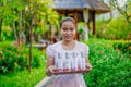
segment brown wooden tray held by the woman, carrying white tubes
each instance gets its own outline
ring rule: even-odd
[[[53,72],[55,75],[59,74],[75,74],[75,73],[88,73],[88,70],[78,70],[78,71],[64,71],[64,72]]]

